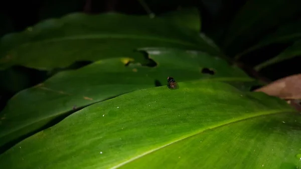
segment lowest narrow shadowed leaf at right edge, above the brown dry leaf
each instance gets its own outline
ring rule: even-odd
[[[301,40],[296,41],[292,46],[286,48],[276,57],[257,65],[254,69],[259,71],[266,66],[299,56],[301,56]]]

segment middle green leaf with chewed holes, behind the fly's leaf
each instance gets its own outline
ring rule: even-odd
[[[142,50],[142,49],[141,49]],[[177,81],[212,79],[228,82],[253,81],[242,70],[224,60],[197,51],[143,49],[156,67],[125,64],[128,58],[95,62],[78,70],[65,71],[44,83],[16,94],[1,112],[0,147],[35,132],[74,107],[106,100],[137,89],[166,85],[167,77]],[[202,73],[211,69],[214,75]]]

